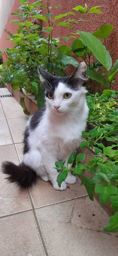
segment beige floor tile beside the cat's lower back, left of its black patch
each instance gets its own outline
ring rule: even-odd
[[[8,119],[9,128],[12,133],[14,143],[23,142],[23,134],[26,127],[28,117],[11,118]]]

